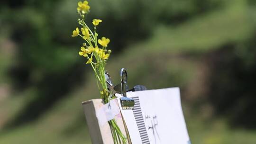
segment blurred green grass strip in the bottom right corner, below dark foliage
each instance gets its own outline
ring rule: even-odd
[[[256,131],[246,129],[230,129],[226,120],[203,122],[198,117],[187,121],[192,144],[254,144]]]

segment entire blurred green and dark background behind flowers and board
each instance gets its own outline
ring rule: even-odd
[[[99,98],[78,55],[77,0],[1,0],[0,144],[90,144],[81,102]],[[107,70],[180,87],[192,144],[256,142],[256,0],[89,0]]]

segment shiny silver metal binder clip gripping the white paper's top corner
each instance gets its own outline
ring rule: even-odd
[[[114,84],[111,81],[110,74],[105,72],[105,78],[108,85],[109,90],[114,95],[116,93],[120,93],[122,95],[122,98],[120,98],[120,103],[123,109],[133,109],[134,107],[134,100],[131,98],[126,97],[126,92],[128,90],[128,84],[127,84],[127,72],[125,69],[121,69],[120,71],[120,77],[121,82],[114,86]]]

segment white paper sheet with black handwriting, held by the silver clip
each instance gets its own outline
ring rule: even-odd
[[[134,110],[122,110],[132,144],[191,144],[179,88],[128,92]],[[120,103],[119,103],[120,106]]]

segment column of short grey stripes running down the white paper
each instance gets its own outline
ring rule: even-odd
[[[134,104],[134,109],[133,109],[133,114],[137,123],[137,127],[139,130],[139,135],[142,141],[142,144],[150,144],[148,135],[146,133],[146,126],[145,122],[143,120],[143,115],[141,112],[140,108],[140,103],[139,103],[139,98],[138,97],[133,97],[135,104]]]

